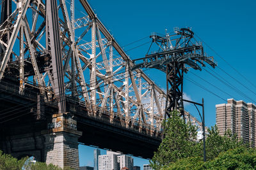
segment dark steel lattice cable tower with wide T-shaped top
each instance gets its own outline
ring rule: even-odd
[[[149,67],[156,68],[166,73],[166,106],[164,119],[166,115],[170,117],[170,111],[177,110],[179,105],[183,106],[183,74],[187,73],[189,68],[202,70],[199,64],[205,66],[205,63],[212,67],[217,66],[213,57],[207,57],[204,53],[202,43],[193,39],[194,32],[188,28],[175,29],[174,34],[158,36],[152,34],[152,45],[156,45],[157,52],[152,52],[140,59],[132,60],[134,63],[143,60],[139,64],[131,67],[131,70]],[[154,48],[156,50],[156,48]],[[181,114],[184,117],[184,111]]]

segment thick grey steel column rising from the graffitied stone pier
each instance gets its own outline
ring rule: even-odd
[[[58,20],[58,5],[56,0],[46,0],[46,19],[48,31],[46,39],[49,38],[49,49],[52,57],[52,72],[54,78],[54,94],[58,101],[59,113],[66,112],[64,74],[61,57],[60,28]]]

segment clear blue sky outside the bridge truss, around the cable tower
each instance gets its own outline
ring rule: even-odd
[[[205,52],[214,56],[218,62],[218,67],[214,71],[206,67],[207,71],[191,70],[185,75],[185,78],[196,81],[213,94],[187,79],[184,80],[184,93],[190,100],[200,103],[204,97],[207,126],[216,123],[215,104],[225,103],[228,98],[256,103],[256,1],[88,0],[88,2],[120,46],[145,38],[152,32],[164,34],[165,29],[172,32],[173,27],[192,28],[196,39],[200,38],[206,43],[203,44]],[[147,43],[149,41],[150,39],[146,38],[125,46],[124,49],[131,59],[143,57],[149,48],[150,43]],[[147,44],[140,46],[143,43]],[[129,50],[136,46],[140,47]],[[159,75],[165,77],[163,73],[154,69],[146,73],[159,87],[166,89],[165,78],[159,79]],[[195,106],[186,104],[185,109],[198,117]],[[79,145],[81,166],[93,166],[93,149]],[[134,159],[134,165],[142,166],[147,162],[148,160],[144,159]]]

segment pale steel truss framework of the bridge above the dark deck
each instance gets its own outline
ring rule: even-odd
[[[45,1],[10,1],[17,8],[0,25],[0,81],[15,78],[20,95],[38,89],[62,113],[65,97],[72,97],[84,101],[92,117],[109,111],[111,120],[118,118],[124,127],[145,124],[159,131],[163,90],[141,69],[129,69],[133,62],[87,1],[76,1],[83,13],[65,0],[54,2],[51,9],[58,18],[50,22],[54,13],[46,10]],[[10,41],[4,40],[7,34]]]

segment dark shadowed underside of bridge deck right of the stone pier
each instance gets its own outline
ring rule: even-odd
[[[83,132],[79,142],[84,145],[97,146],[145,159],[151,159],[161,143],[159,138],[152,138],[92,118],[77,117],[77,130]]]

